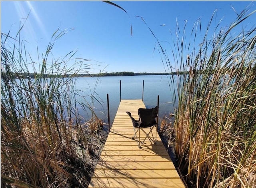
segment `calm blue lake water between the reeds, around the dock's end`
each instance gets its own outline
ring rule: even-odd
[[[98,118],[108,122],[107,94],[109,95],[110,123],[112,124],[120,103],[120,80],[121,99],[142,99],[142,88],[144,80],[143,102],[146,108],[157,106],[157,96],[159,95],[159,117],[163,118],[169,113],[174,113],[173,92],[169,86],[166,75],[148,76],[108,76],[108,77],[79,77],[76,78],[77,90],[81,90],[81,95],[88,95],[86,101],[93,103],[94,112]],[[92,100],[90,96],[94,96]],[[100,101],[100,102],[97,102]],[[82,110],[79,109],[78,110]],[[81,112],[85,119],[91,117],[88,112]]]

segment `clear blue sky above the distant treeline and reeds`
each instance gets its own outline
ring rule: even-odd
[[[156,39],[144,24],[141,16],[159,41],[167,41],[166,49],[175,40],[176,21],[182,28],[187,20],[187,33],[200,18],[206,28],[214,10],[216,21],[222,19],[223,27],[236,18],[231,6],[240,12],[250,5],[256,10],[255,1],[112,1],[124,8],[127,14],[102,1],[1,1],[1,32],[15,36],[19,22],[24,22],[21,32],[26,40],[26,50],[38,62],[52,34],[60,28],[68,31],[56,41],[52,54],[64,58],[72,50],[75,58],[91,60],[90,73],[104,72],[165,72],[160,55],[154,51]],[[255,24],[256,15],[245,24]],[[132,35],[131,29],[132,26]],[[172,34],[170,34],[170,31]],[[188,34],[189,36],[189,34]],[[198,42],[200,39],[198,39]],[[69,62],[72,63],[72,62]]]

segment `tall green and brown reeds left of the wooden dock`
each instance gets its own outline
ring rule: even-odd
[[[34,62],[20,39],[22,27],[14,37],[1,33],[1,187],[84,187],[92,135],[77,106],[94,112],[74,88],[76,79],[64,75],[87,72],[88,60],[75,52],[54,59],[52,48],[66,33],[58,29]],[[101,124],[94,117],[90,129]]]

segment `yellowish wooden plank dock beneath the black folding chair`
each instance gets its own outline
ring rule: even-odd
[[[121,100],[89,188],[185,187],[158,134],[156,144],[147,141],[141,149],[132,140],[126,111],[138,119],[138,108],[145,108],[142,100]]]

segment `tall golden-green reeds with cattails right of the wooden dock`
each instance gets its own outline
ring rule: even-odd
[[[169,78],[176,158],[190,187],[256,187],[256,27],[242,26],[255,12],[246,8],[226,28],[212,26],[214,12],[189,39],[177,22],[172,49],[158,41],[166,70],[189,72]]]

